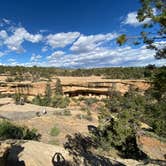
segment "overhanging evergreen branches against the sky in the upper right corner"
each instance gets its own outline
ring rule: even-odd
[[[123,45],[132,40],[135,45],[146,44],[148,49],[155,50],[155,58],[166,58],[166,1],[165,0],[140,0],[141,8],[137,12],[137,19],[143,22],[142,31],[137,36],[122,34],[117,38],[117,43]]]

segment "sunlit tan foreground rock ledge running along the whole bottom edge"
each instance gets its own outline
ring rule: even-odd
[[[142,143],[144,143],[144,141]],[[159,148],[161,147],[159,146]],[[63,147],[49,145],[37,141],[6,140],[0,142],[0,166],[56,166],[57,164],[55,163],[53,164],[52,162],[52,158],[55,153],[61,154],[61,159],[63,157],[63,159],[65,159],[65,161],[68,164],[72,166],[78,165],[75,163],[75,161],[73,161],[73,156],[69,155],[69,152],[65,150]],[[133,159],[122,159],[122,158],[113,159],[113,158],[104,158],[104,157],[102,158],[102,156],[87,156],[87,155],[88,154],[85,154],[87,158],[84,158],[85,156],[79,158],[80,166],[84,166],[85,163],[87,166],[92,166],[92,165],[93,166],[112,166],[112,165],[137,166],[139,164],[141,165],[145,164],[144,161],[137,161]],[[97,157],[99,158],[97,159]],[[85,161],[91,161],[91,162],[85,162]],[[68,164],[66,166],[68,166]],[[59,165],[62,166],[64,164],[59,164]],[[148,166],[166,165],[166,162],[165,160],[162,160],[161,162],[156,160],[148,162],[146,163],[146,165]]]

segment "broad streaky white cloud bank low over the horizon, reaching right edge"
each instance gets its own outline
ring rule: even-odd
[[[154,51],[144,46],[133,49],[123,48],[96,48],[93,51],[80,54],[63,54],[56,58],[49,58],[45,66],[66,68],[93,68],[108,66],[145,66],[148,64],[164,65],[164,60],[156,61]]]

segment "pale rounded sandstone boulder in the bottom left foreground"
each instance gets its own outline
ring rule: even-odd
[[[20,145],[12,146],[8,154],[7,166],[53,166],[57,162],[55,153],[60,158],[59,162],[67,163],[67,161],[72,160],[68,152],[62,147],[37,141],[26,141]]]

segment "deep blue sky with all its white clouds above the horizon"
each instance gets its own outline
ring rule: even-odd
[[[115,42],[122,33],[140,32],[139,6],[138,0],[1,0],[0,64],[164,65],[165,60],[155,60],[154,52],[144,45],[119,47]]]

